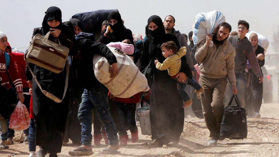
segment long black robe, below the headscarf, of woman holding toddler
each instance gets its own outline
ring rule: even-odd
[[[162,38],[162,43],[166,41],[174,41],[180,48],[178,40],[173,34],[165,34]],[[142,67],[141,71],[148,65],[152,57],[157,53],[157,59],[163,63],[165,57],[162,55],[162,50],[157,49],[158,43],[153,43],[150,38],[144,42],[142,52]],[[191,69],[186,63],[186,57],[181,58],[182,66],[180,72],[186,73],[192,77]],[[183,100],[178,94],[176,80],[168,75],[168,70],[160,71],[156,69],[154,60],[153,67],[153,82],[150,87],[150,122],[152,139],[156,139],[164,135],[168,142],[178,142],[184,126],[184,109]]]

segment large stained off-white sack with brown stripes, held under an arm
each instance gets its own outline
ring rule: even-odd
[[[110,92],[119,98],[130,98],[131,96],[149,90],[146,77],[139,71],[133,60],[120,49],[109,47],[117,59],[118,74],[110,77],[110,64],[101,55],[93,57],[94,73],[99,82]]]

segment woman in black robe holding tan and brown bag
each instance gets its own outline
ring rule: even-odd
[[[49,35],[49,40],[55,42],[58,37],[61,45],[70,49],[70,54],[76,52],[73,47],[73,42],[75,41],[74,30],[62,24],[61,10],[58,7],[49,7],[47,9],[42,27],[35,28],[33,36],[38,33],[46,35],[49,31],[52,31]],[[53,73],[37,65],[29,65],[42,89],[61,100],[65,88],[66,68],[61,73]],[[30,75],[28,77],[30,78]],[[34,78],[32,82],[33,112],[36,120],[36,145],[40,146],[36,156],[45,156],[46,153],[50,153],[49,156],[57,156],[57,153],[61,152],[67,120],[68,92],[61,103],[56,103],[41,92]]]

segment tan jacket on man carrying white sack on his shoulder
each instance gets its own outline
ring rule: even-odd
[[[236,51],[232,44],[225,39],[224,43],[216,49],[213,44],[211,48],[205,45],[203,40],[197,47],[195,59],[200,62],[201,76],[208,78],[227,77],[232,86],[236,86],[234,74],[234,57]]]

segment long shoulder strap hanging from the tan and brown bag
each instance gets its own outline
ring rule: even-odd
[[[26,55],[25,55],[25,58],[26,58]],[[25,59],[25,61],[26,61],[26,59]],[[34,73],[33,73],[33,71],[32,71],[32,69],[30,68],[30,66],[29,66],[29,64],[28,64],[28,62],[26,61],[26,64],[27,64],[27,66],[28,66],[28,68],[29,68],[29,70],[30,70],[30,73],[32,74],[32,76],[34,77],[34,80],[35,80],[35,82],[36,82],[36,84],[38,85],[38,87],[40,88],[40,90],[42,91],[42,93],[46,96],[46,97],[48,97],[48,98],[50,98],[51,100],[53,100],[54,102],[57,102],[57,103],[60,103],[60,102],[62,102],[62,100],[64,99],[64,97],[65,97],[65,95],[66,95],[66,92],[67,92],[67,88],[68,88],[68,81],[69,81],[69,63],[68,62],[66,62],[66,78],[65,78],[65,88],[64,88],[64,93],[63,93],[63,98],[60,100],[59,98],[57,98],[56,96],[54,96],[53,94],[51,94],[51,93],[49,93],[49,92],[47,92],[47,91],[45,91],[45,90],[43,90],[42,89],[42,87],[41,87],[41,85],[40,85],[40,83],[39,83],[39,81],[37,80],[37,78],[36,78],[36,76],[34,75]]]

